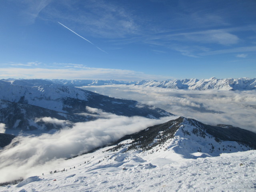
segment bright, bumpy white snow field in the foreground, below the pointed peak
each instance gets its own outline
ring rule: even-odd
[[[21,187],[18,187],[19,184],[0,187],[0,191],[238,192],[256,190],[256,150],[221,154],[218,157],[177,158],[177,161],[172,159],[169,162],[167,158],[153,159],[153,156],[151,160],[146,161],[138,157],[136,152],[103,153],[104,150],[106,148],[71,159],[75,168],[45,174],[35,182],[20,184]],[[94,158],[92,158],[93,155]],[[86,164],[83,163],[84,161]],[[159,162],[158,166],[150,164],[156,161]],[[164,161],[166,163],[162,163]],[[33,181],[29,178],[27,180]]]

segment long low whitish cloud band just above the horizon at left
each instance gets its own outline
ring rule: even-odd
[[[24,79],[92,79],[92,80],[166,80],[171,79],[171,76],[151,75],[133,70],[108,69],[108,68],[89,68],[72,66],[67,64],[66,68],[63,65],[54,66],[54,68],[0,68],[0,78],[24,78]],[[44,66],[45,67],[45,66]]]

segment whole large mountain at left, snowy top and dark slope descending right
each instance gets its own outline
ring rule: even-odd
[[[38,121],[44,117],[70,122],[95,119],[95,112],[90,108],[122,116],[160,118],[171,115],[134,100],[110,98],[49,80],[0,80],[0,106],[0,123],[23,130],[56,128]]]

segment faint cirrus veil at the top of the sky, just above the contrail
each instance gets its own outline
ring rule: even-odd
[[[45,10],[44,18],[69,23],[70,28],[98,38],[123,38],[137,34],[140,28],[130,10],[104,0],[52,4]]]

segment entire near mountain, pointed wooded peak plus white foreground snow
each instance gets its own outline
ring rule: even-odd
[[[180,117],[0,190],[255,191],[255,135]]]

